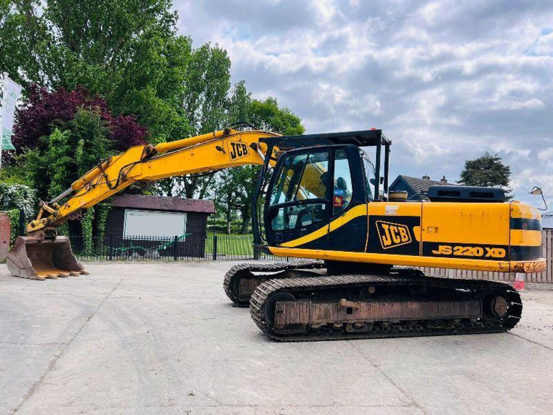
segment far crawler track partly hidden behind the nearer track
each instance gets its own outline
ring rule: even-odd
[[[235,278],[239,278],[241,274],[248,273],[248,277],[259,278],[273,278],[272,275],[258,275],[255,276],[252,272],[280,272],[287,269],[319,269],[324,268],[325,263],[322,261],[301,261],[301,262],[273,262],[273,263],[243,263],[233,266],[225,274],[223,280],[223,288],[227,297],[232,300],[238,307],[249,307],[249,302],[241,302],[236,293],[233,292]],[[280,279],[285,277],[275,276],[273,279]]]

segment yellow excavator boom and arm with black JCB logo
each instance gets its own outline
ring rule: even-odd
[[[136,181],[263,164],[267,144],[259,142],[259,139],[279,135],[260,130],[237,131],[226,128],[156,146],[146,144],[131,147],[98,164],[50,203],[41,202],[38,216],[27,225],[27,234],[55,230],[65,221],[81,217],[89,207]],[[273,161],[270,163],[274,164]],[[64,204],[58,204],[58,201],[72,193]]]

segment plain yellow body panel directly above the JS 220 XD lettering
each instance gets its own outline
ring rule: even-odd
[[[508,203],[422,204],[422,242],[509,245]]]

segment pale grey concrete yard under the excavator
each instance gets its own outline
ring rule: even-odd
[[[553,412],[553,292],[510,333],[275,343],[222,278],[236,262],[0,264],[0,414]]]

